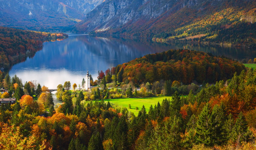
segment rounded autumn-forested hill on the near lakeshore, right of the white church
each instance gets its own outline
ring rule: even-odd
[[[115,67],[117,80],[136,85],[162,80],[177,80],[183,84],[191,82],[213,83],[230,79],[245,66],[228,58],[211,56],[205,52],[190,50],[168,50],[145,55]]]

